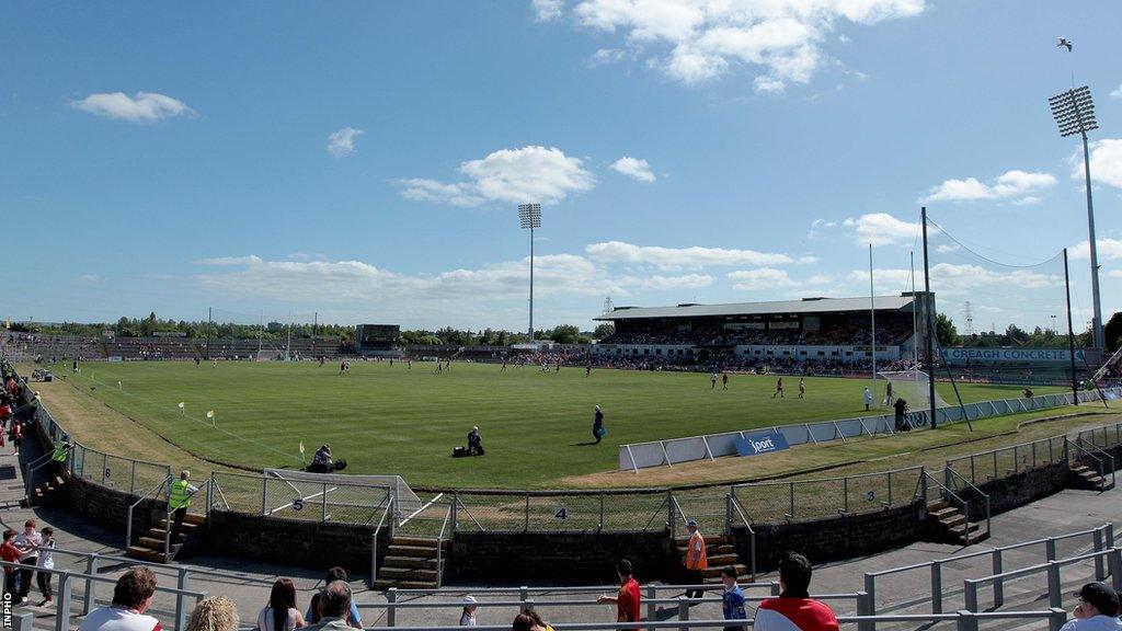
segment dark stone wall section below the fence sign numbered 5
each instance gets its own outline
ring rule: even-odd
[[[211,511],[199,550],[312,568],[342,566],[369,574],[374,525],[288,520],[227,511]],[[389,533],[378,536],[378,564],[389,549]]]

